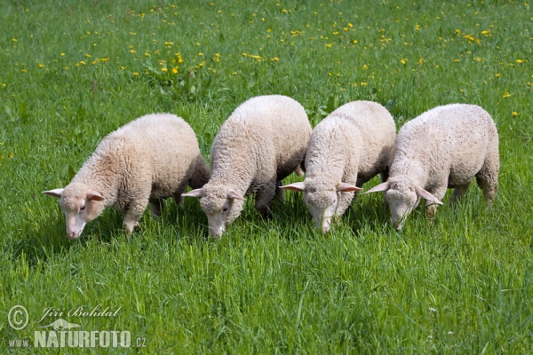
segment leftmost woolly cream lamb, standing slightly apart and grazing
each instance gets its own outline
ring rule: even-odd
[[[202,187],[209,178],[187,122],[174,114],[147,114],[103,138],[65,188],[43,193],[60,199],[69,239],[106,207],[121,211],[129,235],[148,203],[159,216],[163,199],[173,196],[179,203],[187,185]]]

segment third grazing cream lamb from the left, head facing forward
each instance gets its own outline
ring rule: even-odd
[[[306,154],[304,182],[282,186],[301,191],[322,233],[332,217],[342,216],[355,193],[372,177],[386,180],[396,138],[394,119],[384,106],[354,101],[338,107],[313,130]]]

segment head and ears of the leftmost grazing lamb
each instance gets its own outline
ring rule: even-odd
[[[69,239],[79,238],[84,226],[99,217],[105,209],[104,197],[81,183],[69,184],[64,189],[45,191],[44,194],[60,199]]]

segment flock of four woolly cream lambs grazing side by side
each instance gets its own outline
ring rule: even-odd
[[[306,176],[282,185],[292,172]],[[376,102],[353,101],[311,127],[306,110],[282,95],[245,101],[222,124],[211,146],[211,169],[194,130],[174,114],[147,114],[103,138],[64,188],[44,191],[60,199],[67,236],[107,208],[123,215],[125,232],[140,228],[147,206],[159,216],[164,199],[199,198],[213,239],[241,215],[247,196],[270,213],[274,197],[301,192],[316,227],[327,233],[371,178],[381,184],[398,230],[420,200],[433,220],[448,188],[453,206],[475,177],[491,206],[498,188],[497,127],[480,106],[437,106],[406,122]],[[192,190],[186,193],[187,186]],[[303,222],[302,222],[303,223]]]

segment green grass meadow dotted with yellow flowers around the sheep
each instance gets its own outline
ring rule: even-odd
[[[33,346],[58,318],[131,332],[130,348],[93,352],[533,352],[528,0],[0,7],[0,352],[87,352]],[[297,99],[313,125],[357,99],[385,105],[398,128],[434,106],[480,105],[500,135],[495,207],[473,184],[457,209],[447,194],[434,225],[417,209],[396,232],[381,196],[362,195],[322,235],[286,192],[269,220],[249,198],[210,241],[190,199],[158,220],[147,210],[129,240],[108,209],[69,241],[58,201],[41,194],[147,113],[183,117],[209,158],[221,122],[265,94]],[[28,310],[22,330],[8,322],[16,304]],[[98,306],[118,312],[68,315]],[[37,321],[50,307],[57,314]]]

